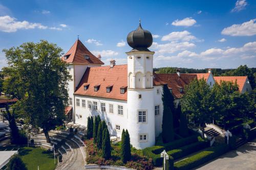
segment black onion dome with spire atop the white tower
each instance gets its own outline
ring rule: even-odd
[[[143,30],[139,25],[136,30],[127,35],[127,43],[136,50],[147,50],[153,43],[153,37],[151,32]]]

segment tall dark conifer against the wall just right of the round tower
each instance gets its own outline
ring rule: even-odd
[[[164,143],[174,140],[173,114],[168,105],[169,89],[167,85],[163,86],[163,120],[162,120],[162,139]]]

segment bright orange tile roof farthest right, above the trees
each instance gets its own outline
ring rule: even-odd
[[[227,81],[227,82],[236,82],[239,87],[239,91],[241,92],[243,90],[243,87],[245,85],[247,76],[219,76],[219,77],[214,77],[215,82],[220,84],[221,81]]]

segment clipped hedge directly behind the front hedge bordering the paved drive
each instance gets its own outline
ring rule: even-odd
[[[189,145],[185,145],[184,147],[181,147],[179,149],[170,150],[167,152],[167,154],[172,156],[174,160],[176,160],[193,152],[205,149],[207,147],[209,147],[208,141],[198,141]]]

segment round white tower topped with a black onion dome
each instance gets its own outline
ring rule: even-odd
[[[127,35],[127,129],[131,144],[144,149],[155,144],[152,34],[139,27]]]

